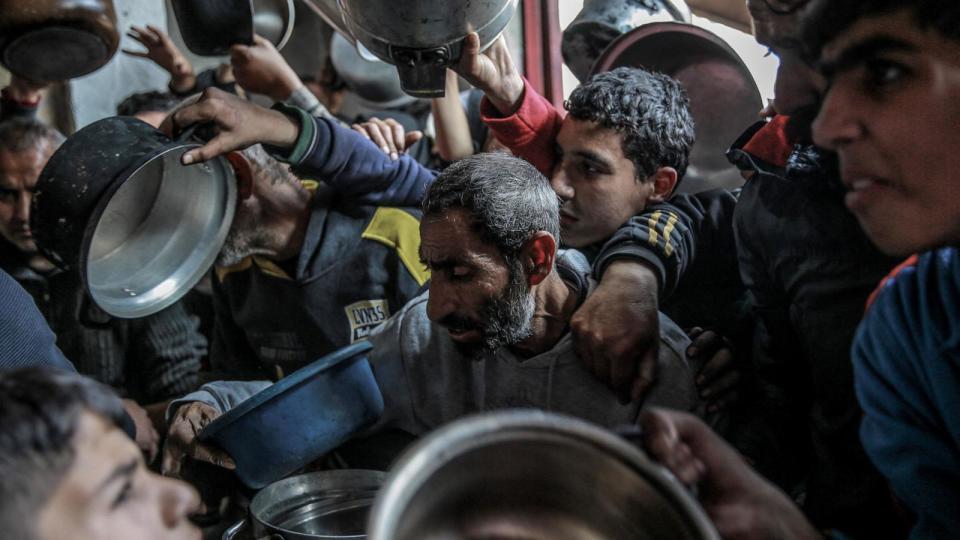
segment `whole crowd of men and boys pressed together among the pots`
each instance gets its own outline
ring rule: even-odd
[[[44,85],[15,76],[0,527],[199,537],[191,520],[235,495],[185,474],[233,466],[203,427],[369,340],[384,413],[318,467],[386,470],[457,418],[534,408],[641,426],[722,538],[960,536],[960,4],[747,6],[780,59],[776,96],[730,141],[743,188],[696,194],[677,193],[697,144],[687,94],[639,67],[583,81],[561,110],[503,38],[481,51],[471,34],[426,130],[422,103],[340,115],[360,89],[334,62],[300,76],[257,37],[197,74],[162,30],[132,28],[143,49],[125,52],[170,84],[118,114],[170,135],[214,125],[182,162],[225,156],[238,187],[208,278],[140,319],[100,309],[33,238],[64,136],[37,119]]]

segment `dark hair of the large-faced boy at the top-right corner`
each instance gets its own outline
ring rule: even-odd
[[[820,58],[821,49],[867,17],[907,10],[917,26],[960,41],[960,2],[957,0],[815,0],[804,20],[805,55]]]

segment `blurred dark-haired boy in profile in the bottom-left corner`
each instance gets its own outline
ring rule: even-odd
[[[0,527],[23,540],[197,539],[186,484],[150,472],[123,405],[67,371],[0,374]]]

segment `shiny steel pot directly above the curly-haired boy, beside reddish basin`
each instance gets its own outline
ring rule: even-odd
[[[585,81],[607,45],[623,34],[652,22],[689,23],[691,19],[683,0],[586,0],[563,30],[563,62]]]

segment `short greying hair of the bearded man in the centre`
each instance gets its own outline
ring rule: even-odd
[[[503,153],[475,154],[443,170],[423,197],[423,218],[463,208],[480,238],[516,258],[534,233],[560,243],[560,200],[530,163]]]

